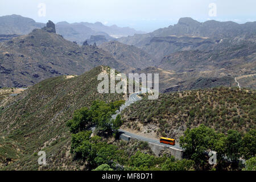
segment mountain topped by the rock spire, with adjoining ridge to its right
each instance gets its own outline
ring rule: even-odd
[[[98,65],[127,73],[155,63],[153,56],[135,46],[119,42],[101,48],[88,43],[80,46],[55,32],[55,24],[49,21],[47,27],[1,42],[0,87],[31,86],[49,77],[81,75]]]

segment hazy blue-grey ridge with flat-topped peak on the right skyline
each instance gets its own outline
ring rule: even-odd
[[[236,38],[238,42],[250,39],[255,42],[256,22],[247,22],[238,24],[234,22],[218,22],[209,20],[204,23],[197,22],[192,18],[180,18],[179,22],[174,26],[167,28],[159,28],[154,32],[142,35],[128,36],[127,38],[119,38],[118,41],[134,45],[144,46],[154,37],[159,36],[200,36],[214,40]]]

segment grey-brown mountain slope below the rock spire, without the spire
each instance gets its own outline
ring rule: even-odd
[[[110,53],[95,46],[79,46],[50,32],[35,29],[0,43],[0,86],[34,85],[53,76],[80,75],[97,65],[118,68]]]

